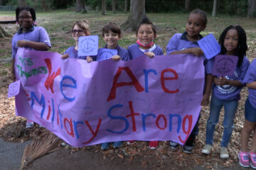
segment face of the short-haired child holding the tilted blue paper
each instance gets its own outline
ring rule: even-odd
[[[186,32],[188,33],[188,38],[192,40],[198,40],[198,35],[202,30],[206,28],[206,23],[204,23],[203,18],[198,13],[191,13],[188,16],[188,21],[186,23]]]

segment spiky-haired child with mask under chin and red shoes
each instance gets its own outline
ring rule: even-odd
[[[149,18],[143,18],[142,22],[136,30],[137,43],[128,47],[128,52],[131,59],[146,55],[148,57],[154,57],[154,55],[164,55],[163,50],[158,45],[155,45],[153,40],[156,38],[156,27],[149,20]],[[128,145],[134,144],[135,140],[127,142]],[[149,149],[156,149],[158,147],[158,141],[150,141]]]

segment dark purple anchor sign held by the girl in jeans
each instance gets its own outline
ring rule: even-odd
[[[233,55],[217,55],[213,64],[213,75],[232,76],[238,64],[238,57]]]

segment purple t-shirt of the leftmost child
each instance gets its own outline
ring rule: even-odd
[[[40,26],[33,26],[26,33],[22,33],[22,28],[18,30],[18,32],[14,35],[11,41],[11,51],[12,51],[12,58],[15,58],[16,52],[18,50],[17,42],[18,40],[28,40],[28,41],[35,41],[35,42],[43,42],[46,45],[50,45],[50,38],[46,29]],[[30,47],[25,47],[28,50],[34,50]]]

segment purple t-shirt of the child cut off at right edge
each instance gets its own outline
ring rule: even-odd
[[[252,83],[253,81],[256,81],[256,59],[252,61],[250,64],[250,67],[247,69],[247,72],[245,74],[245,78],[242,80],[244,84]],[[254,108],[256,108],[256,89],[250,89],[249,91],[249,101],[252,104]]]

